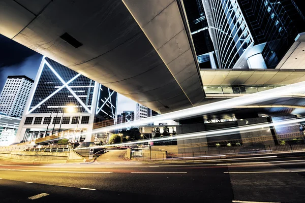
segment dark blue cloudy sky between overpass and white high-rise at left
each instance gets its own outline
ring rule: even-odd
[[[0,92],[10,75],[25,75],[35,80],[42,55],[0,35]]]

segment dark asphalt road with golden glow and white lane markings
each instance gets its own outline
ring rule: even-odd
[[[107,153],[91,164],[20,165],[0,161],[0,202],[304,202],[305,199],[302,155],[208,163],[142,163],[125,160],[124,150]],[[28,199],[38,194],[42,195]]]

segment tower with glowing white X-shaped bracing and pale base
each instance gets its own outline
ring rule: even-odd
[[[16,142],[52,135],[90,141],[95,120],[115,123],[116,96],[116,92],[44,57]]]

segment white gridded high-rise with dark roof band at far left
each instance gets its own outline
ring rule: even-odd
[[[26,76],[8,76],[0,95],[0,112],[21,118],[33,83]]]

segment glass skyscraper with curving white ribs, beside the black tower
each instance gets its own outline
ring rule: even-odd
[[[254,43],[237,0],[203,0],[202,3],[219,67],[233,68]]]

